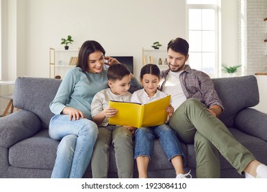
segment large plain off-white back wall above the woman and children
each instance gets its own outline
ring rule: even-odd
[[[107,55],[133,56],[134,73],[142,67],[142,47],[156,40],[166,45],[185,37],[185,1],[27,0],[26,74],[49,77],[49,47],[63,48],[61,38],[97,40]]]

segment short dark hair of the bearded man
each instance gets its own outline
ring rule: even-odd
[[[172,49],[177,53],[183,54],[183,56],[187,56],[189,44],[183,38],[175,38],[173,40],[170,40],[170,42],[168,43],[167,51],[168,49]]]

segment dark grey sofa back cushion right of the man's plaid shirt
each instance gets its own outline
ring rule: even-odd
[[[233,127],[236,114],[243,108],[253,107],[259,103],[257,79],[253,75],[212,79],[218,97],[223,102],[225,111],[220,120]]]

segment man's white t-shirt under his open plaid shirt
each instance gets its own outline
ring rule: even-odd
[[[184,95],[181,88],[181,82],[179,80],[179,75],[183,71],[173,72],[169,71],[166,76],[166,81],[164,82],[162,91],[170,95],[170,104],[175,108],[175,110],[186,101],[186,95]]]

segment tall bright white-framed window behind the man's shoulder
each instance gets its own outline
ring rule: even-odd
[[[189,64],[192,69],[218,77],[218,0],[187,0]]]

